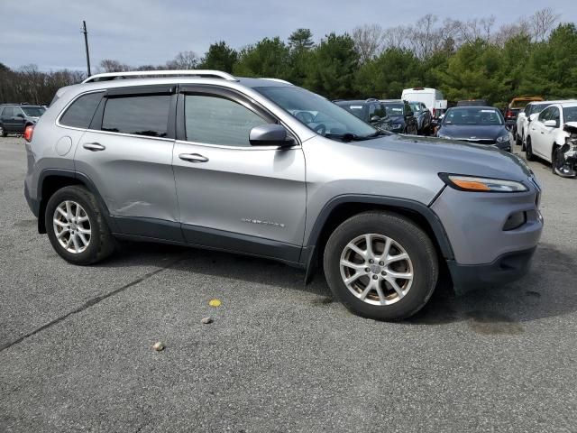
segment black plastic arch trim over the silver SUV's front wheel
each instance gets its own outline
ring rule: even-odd
[[[308,235],[306,246],[315,246],[318,239],[323,231],[326,221],[338,206],[344,204],[354,204],[362,203],[368,205],[380,205],[393,208],[405,209],[409,211],[416,212],[421,217],[426,219],[426,222],[431,226],[433,234],[435,235],[435,241],[439,245],[441,253],[445,260],[452,260],[454,258],[453,248],[449,241],[449,238],[444,231],[443,223],[439,217],[436,216],[435,212],[430,208],[415,200],[410,200],[408,198],[394,198],[386,196],[374,196],[374,195],[357,195],[357,194],[343,194],[341,196],[336,196],[329,200],[325,207],[320,211],[318,217],[316,217],[315,224],[311,230],[310,235]],[[311,248],[311,250],[313,250]],[[306,259],[306,260],[303,260]],[[308,263],[308,258],[301,257],[301,263]]]

